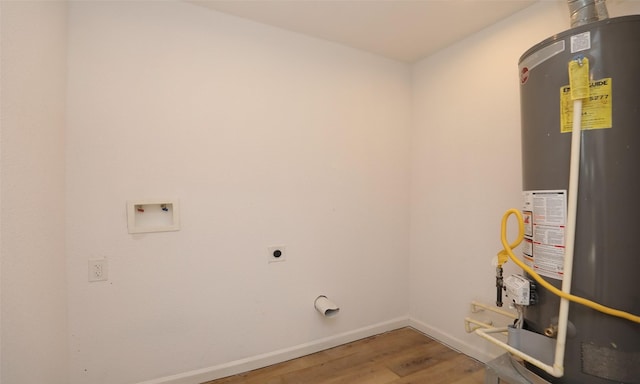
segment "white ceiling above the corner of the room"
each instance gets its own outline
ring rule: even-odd
[[[188,0],[394,60],[414,62],[537,0]]]

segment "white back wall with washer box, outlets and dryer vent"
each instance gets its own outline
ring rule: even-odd
[[[408,66],[191,4],[69,7],[71,383],[406,321]],[[179,198],[182,230],[129,235],[148,197]]]

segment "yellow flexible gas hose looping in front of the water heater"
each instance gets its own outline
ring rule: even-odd
[[[518,238],[511,244],[507,240],[507,221],[511,215],[515,215],[518,219]],[[558,288],[549,284],[545,279],[543,279],[540,275],[538,275],[533,269],[529,268],[525,263],[523,263],[520,259],[518,259],[513,254],[513,249],[520,245],[522,240],[524,239],[524,221],[522,220],[522,214],[517,209],[509,209],[505,212],[504,216],[502,216],[502,226],[500,229],[500,240],[502,241],[502,246],[504,249],[498,253],[498,266],[501,267],[504,263],[506,263],[509,259],[511,259],[514,263],[516,263],[520,268],[522,268],[525,272],[527,272],[531,277],[534,278],[540,285],[551,291],[556,296],[560,296],[569,301],[573,301],[574,303],[582,304],[591,309],[595,309],[596,311],[600,311],[602,313],[606,313],[607,315],[621,317],[623,319],[627,319],[633,321],[635,323],[640,323],[640,316],[633,315],[628,312],[624,312],[618,309],[613,309],[606,307],[602,304],[598,304],[595,301],[591,301],[585,299],[583,297],[575,296],[570,293],[562,292]]]

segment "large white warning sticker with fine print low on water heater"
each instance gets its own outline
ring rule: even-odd
[[[524,262],[542,276],[562,280],[567,191],[525,191]]]

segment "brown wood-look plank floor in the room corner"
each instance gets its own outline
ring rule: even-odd
[[[402,328],[203,384],[483,384],[484,365]]]

